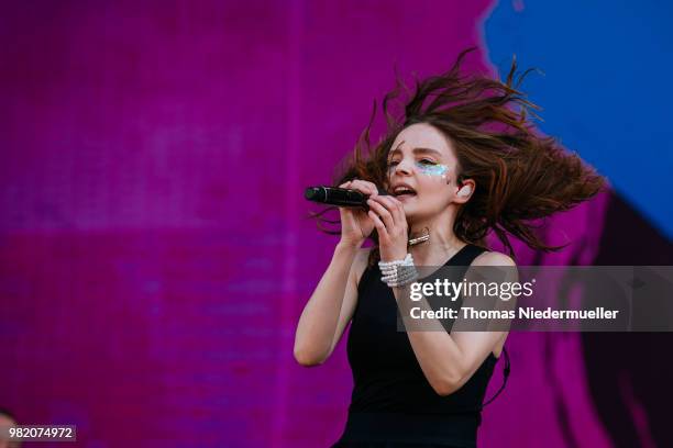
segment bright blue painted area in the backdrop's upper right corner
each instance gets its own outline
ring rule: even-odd
[[[522,85],[543,108],[540,128],[606,176],[673,238],[673,3],[500,1],[485,21],[500,76],[512,54],[538,67]]]

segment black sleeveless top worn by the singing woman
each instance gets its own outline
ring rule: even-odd
[[[444,266],[460,281],[485,249],[466,245]],[[353,394],[345,430],[333,447],[475,447],[481,407],[497,359],[493,352],[457,391],[439,395],[426,379],[409,338],[397,331],[399,310],[378,266],[357,288],[347,338]],[[460,305],[460,300],[459,300]]]

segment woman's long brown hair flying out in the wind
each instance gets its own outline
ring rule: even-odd
[[[457,157],[457,181],[473,179],[476,188],[459,211],[453,225],[455,235],[465,243],[485,247],[493,231],[514,257],[508,235],[529,247],[544,251],[565,246],[549,246],[536,234],[536,220],[565,211],[597,194],[605,179],[574,153],[560,146],[554,137],[536,133],[528,115],[540,108],[528,101],[519,89],[516,58],[506,82],[483,75],[464,75],[461,63],[475,48],[463,51],[453,67],[439,76],[416,80],[411,92],[398,78],[397,87],[384,97],[383,114],[387,128],[372,146],[369,133],[376,104],[353,154],[335,176],[339,186],[351,179],[364,179],[383,186],[387,181],[387,156],[397,134],[416,123],[437,127],[453,144]],[[515,80],[515,78],[517,78]],[[402,112],[390,111],[393,101],[407,93]],[[324,213],[312,214],[321,222],[335,223]],[[374,231],[369,237],[377,245]],[[378,258],[373,251],[369,261]]]

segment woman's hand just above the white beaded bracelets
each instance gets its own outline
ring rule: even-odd
[[[402,203],[390,195],[376,195],[367,200],[368,215],[378,233],[382,261],[401,260],[407,256],[409,232]]]

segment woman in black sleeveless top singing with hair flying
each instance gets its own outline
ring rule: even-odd
[[[538,238],[534,220],[604,186],[576,155],[534,133],[527,112],[537,107],[518,90],[527,72],[516,85],[516,63],[506,83],[466,76],[460,70],[466,53],[448,72],[417,81],[400,116],[389,111],[399,88],[388,93],[384,138],[369,148],[369,123],[335,182],[368,194],[369,210],[339,209],[341,239],[295,338],[297,361],[320,365],[351,323],[354,389],[334,447],[476,446],[486,387],[508,333],[398,332],[413,269],[514,267],[508,235],[558,250]],[[490,232],[509,255],[486,247]],[[367,238],[373,247],[362,248]]]

